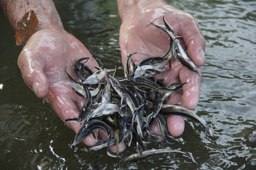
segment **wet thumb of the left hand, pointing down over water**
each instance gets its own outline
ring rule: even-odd
[[[36,96],[45,97],[49,83],[43,72],[45,66],[43,57],[25,46],[19,55],[18,65],[26,85],[36,93]]]

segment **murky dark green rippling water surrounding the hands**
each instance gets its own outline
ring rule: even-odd
[[[0,169],[255,169],[256,168],[256,1],[169,0],[193,14],[206,40],[205,66],[197,114],[219,137],[187,121],[172,146],[191,152],[198,165],[176,154],[124,164],[102,149],[74,152],[75,134],[52,108],[23,82],[17,65],[21,51],[14,31],[0,13]],[[65,29],[106,68],[121,66],[120,18],[115,0],[55,1]],[[111,60],[111,62],[109,61]],[[152,147],[157,148],[158,144]],[[127,147],[122,156],[135,152]]]

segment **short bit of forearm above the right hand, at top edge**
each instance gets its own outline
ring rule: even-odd
[[[136,8],[136,6],[143,6],[143,4],[148,4],[150,1],[168,3],[168,0],[117,0],[118,12],[121,19],[123,19],[124,15],[131,12],[132,9]]]

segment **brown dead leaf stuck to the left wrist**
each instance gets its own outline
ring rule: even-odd
[[[28,39],[35,33],[38,26],[38,19],[33,10],[28,11],[17,23],[15,34],[16,45],[21,46],[26,44]]]

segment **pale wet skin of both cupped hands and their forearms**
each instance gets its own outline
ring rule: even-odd
[[[188,50],[190,59],[199,67],[204,65],[204,36],[192,15],[157,0],[117,0],[117,4],[122,19],[120,47],[123,63],[128,53],[137,52],[138,54],[132,56],[133,61],[137,62],[148,56],[161,56],[170,48],[167,34],[150,24],[163,24],[164,15],[173,27],[174,35],[184,36],[184,41],[180,42]],[[67,84],[70,80],[65,73],[65,67],[75,77],[72,68],[74,61],[92,55],[78,39],[64,30],[51,0],[17,0],[15,3],[1,0],[1,8],[14,30],[27,11],[33,10],[36,13],[38,28],[18,58],[24,82],[39,98],[50,103],[62,120],[78,117],[79,109],[85,101]],[[91,58],[86,65],[93,69],[97,63]],[[196,107],[201,84],[201,77],[197,73],[172,60],[172,69],[155,77],[164,79],[166,85],[187,82],[183,86],[183,94],[174,94],[168,103],[181,102],[188,109]],[[77,123],[66,123],[76,133],[81,127]],[[172,136],[180,136],[184,131],[184,119],[180,116],[168,117],[167,125]],[[158,131],[156,123],[153,123],[151,129]],[[113,128],[112,133],[114,134]],[[101,130],[98,135],[99,138],[107,138]],[[83,142],[93,146],[97,141],[88,136]],[[119,152],[124,149],[125,144],[121,142]],[[116,146],[112,145],[111,150],[115,152]]]

